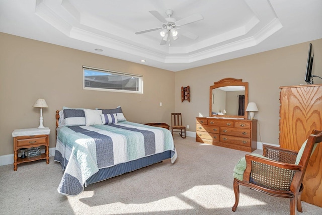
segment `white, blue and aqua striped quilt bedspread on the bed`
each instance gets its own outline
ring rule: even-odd
[[[86,180],[101,168],[171,151],[177,152],[171,132],[165,128],[120,122],[108,125],[62,126],[57,128],[55,161],[64,174],[58,187],[63,195],[84,191]]]

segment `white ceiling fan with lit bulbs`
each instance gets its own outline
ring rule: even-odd
[[[171,17],[173,15],[173,10],[167,10],[166,14],[167,14],[167,18],[164,18],[161,14],[159,14],[159,12],[157,11],[149,11],[156,19],[158,19],[160,22],[162,22],[162,27],[158,27],[158,28],[152,28],[152,29],[147,29],[144,31],[138,31],[135,32],[135,34],[142,34],[142,33],[146,33],[146,32],[150,32],[150,31],[157,31],[159,29],[163,29],[160,32],[160,35],[163,37],[160,45],[165,45],[167,43],[167,41],[170,42],[170,39],[176,40],[178,39],[178,29],[177,27],[183,26],[183,25],[187,25],[193,22],[197,22],[200,20],[203,20],[203,16],[200,14],[194,14],[191,15],[189,17],[183,18],[181,20],[176,20],[175,18]],[[176,30],[177,29],[177,30]],[[191,32],[186,32],[184,30],[180,30],[181,34],[185,37],[188,37],[192,40],[195,40],[198,38],[197,35],[191,33]]]

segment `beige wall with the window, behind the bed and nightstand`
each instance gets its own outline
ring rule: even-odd
[[[51,129],[55,147],[55,111],[62,106],[116,108],[129,121],[171,124],[175,73],[0,33],[0,156],[13,154],[14,129],[39,126],[40,110],[32,107],[46,99],[44,125]],[[82,66],[143,75],[144,94],[83,90]],[[162,106],[159,106],[162,102]]]

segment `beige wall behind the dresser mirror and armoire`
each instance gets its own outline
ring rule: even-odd
[[[314,49],[313,75],[322,77],[322,39],[311,41]],[[175,107],[183,123],[196,131],[195,117],[209,115],[209,87],[224,78],[249,82],[249,102],[259,112],[258,141],[278,144],[279,93],[281,86],[305,84],[309,42],[176,72]],[[322,80],[314,78],[314,84]],[[190,86],[190,103],[181,102],[181,86]]]

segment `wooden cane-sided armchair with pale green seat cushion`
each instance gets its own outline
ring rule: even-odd
[[[296,214],[296,208],[302,212],[303,177],[310,156],[321,141],[322,130],[313,130],[299,152],[264,145],[263,156],[253,154],[241,158],[234,169],[235,204],[232,211],[238,205],[239,185],[243,185],[272,196],[289,198],[290,214]],[[241,174],[243,159],[246,169]]]

